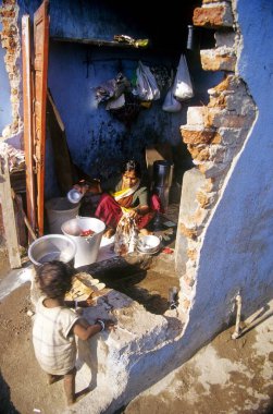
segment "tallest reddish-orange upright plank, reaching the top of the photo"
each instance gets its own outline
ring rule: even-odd
[[[48,84],[49,1],[45,0],[34,14],[34,71],[35,71],[35,159],[37,166],[37,222],[38,234],[44,234],[46,110]]]

